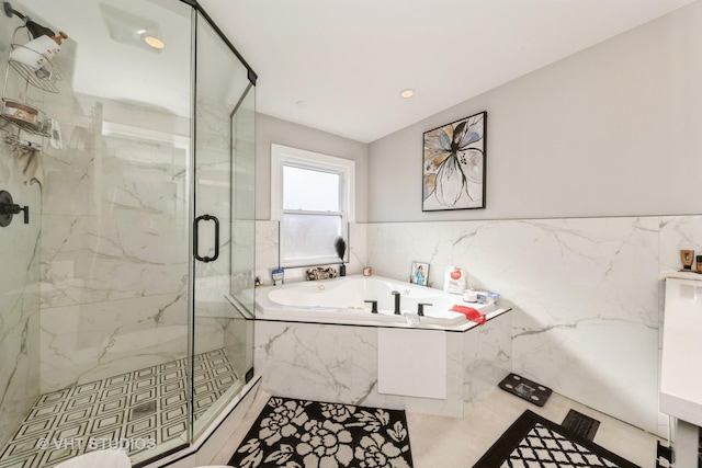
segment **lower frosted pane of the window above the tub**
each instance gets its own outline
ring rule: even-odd
[[[341,216],[284,214],[282,224],[284,264],[338,259],[333,241],[342,235]]]

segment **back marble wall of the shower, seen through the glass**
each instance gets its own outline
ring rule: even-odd
[[[190,121],[70,93],[50,99],[66,111],[55,117],[64,149],[44,156],[42,392],[184,357],[191,251]],[[223,241],[220,260],[199,265],[195,279],[202,353],[224,346],[229,323],[230,180],[228,114],[200,103],[197,117],[199,206],[220,219]]]

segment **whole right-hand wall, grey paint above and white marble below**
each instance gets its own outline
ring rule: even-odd
[[[700,244],[690,227],[700,217],[681,216],[702,213],[700,25],[702,1],[374,141],[369,155],[374,270],[404,277],[426,261],[441,287],[449,265],[466,269],[473,286],[514,307],[514,372],[660,435],[657,275]],[[486,209],[422,213],[423,132],[480,111]]]

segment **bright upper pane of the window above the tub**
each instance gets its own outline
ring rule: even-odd
[[[338,173],[283,165],[283,209],[340,212]]]

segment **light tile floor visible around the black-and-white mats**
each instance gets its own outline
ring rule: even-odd
[[[244,423],[214,457],[212,464],[226,464],[249,427],[265,406],[270,395],[259,391]],[[469,468],[500,437],[524,410],[532,410],[561,423],[574,409],[600,421],[595,443],[639,465],[656,466],[653,434],[553,393],[543,408],[531,404],[499,388],[464,418],[408,413],[414,468]]]

